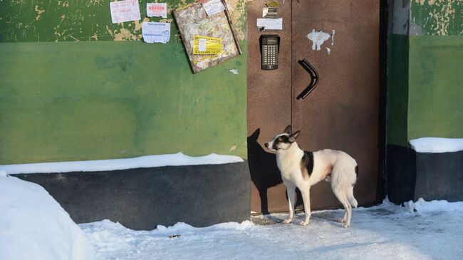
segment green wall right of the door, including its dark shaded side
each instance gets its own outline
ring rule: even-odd
[[[395,28],[409,28],[403,35],[391,30],[388,39],[387,144],[407,147],[408,141],[428,136],[461,138],[463,2],[403,3],[390,0],[397,12],[390,21],[400,23]]]

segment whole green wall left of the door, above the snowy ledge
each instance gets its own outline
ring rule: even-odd
[[[150,44],[137,22],[111,24],[109,1],[0,1],[0,164],[246,158],[246,8],[229,4],[244,54],[192,74],[175,23]]]

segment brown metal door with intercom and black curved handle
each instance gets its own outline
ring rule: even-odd
[[[377,198],[380,98],[380,1],[279,1],[283,31],[258,32],[256,18],[266,1],[251,1],[248,15],[248,147],[251,210],[288,210],[286,192],[267,142],[291,123],[301,130],[304,150],[343,150],[357,160],[360,172],[354,193],[360,205]],[[308,33],[331,37],[313,50]],[[281,36],[279,69],[260,70],[259,36]],[[334,35],[334,37],[333,37]],[[306,60],[319,74],[318,86],[297,100],[310,82],[298,64]],[[301,199],[298,203],[301,204]],[[326,182],[311,189],[313,209],[340,207]]]

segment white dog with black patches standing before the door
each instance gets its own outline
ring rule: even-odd
[[[265,147],[276,151],[276,164],[288,194],[289,217],[283,223],[288,224],[293,221],[294,195],[298,187],[306,212],[306,219],[301,225],[306,226],[311,218],[311,186],[326,180],[331,182],[331,189],[345,209],[344,217],[340,218],[339,222],[343,223],[342,227],[350,227],[352,207],[357,207],[357,200],[353,195],[353,187],[358,175],[357,162],[341,151],[326,149],[304,152],[296,143],[300,132],[291,134],[291,125],[288,125],[283,133],[276,135],[274,140],[265,144]]]

